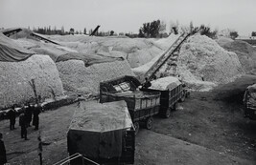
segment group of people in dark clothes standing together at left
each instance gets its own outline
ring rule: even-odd
[[[10,119],[10,130],[15,129],[15,120],[16,120],[16,111],[15,107],[12,106],[12,109],[8,112],[8,116]],[[27,128],[31,127],[31,122],[33,121],[33,125],[35,126],[35,130],[39,128],[39,113],[41,112],[41,107],[35,104],[27,104],[24,106],[22,113],[19,115],[19,126],[21,128],[21,138],[27,138]]]

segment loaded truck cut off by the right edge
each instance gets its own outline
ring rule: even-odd
[[[256,84],[250,85],[244,92],[244,117],[256,120]]]

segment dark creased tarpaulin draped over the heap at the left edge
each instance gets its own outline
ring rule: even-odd
[[[0,61],[17,62],[29,58],[35,52],[19,47],[12,39],[0,32]]]

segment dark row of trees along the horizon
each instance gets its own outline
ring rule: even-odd
[[[75,31],[74,28],[71,28],[69,31],[65,31],[64,27],[62,26],[60,30],[58,30],[56,27],[53,29],[51,26],[44,27],[44,28],[37,28],[33,29],[33,31],[41,34],[47,34],[47,35],[67,35],[67,34],[88,34],[90,35],[92,33],[92,29],[87,31],[86,28],[83,29],[83,31]],[[170,31],[167,31],[167,25],[164,21],[160,21],[159,19],[153,20],[151,22],[143,23],[143,25],[139,28],[138,33],[132,33],[132,32],[119,32],[118,34],[115,33],[115,31],[97,31],[95,33],[96,36],[111,36],[111,35],[126,35],[131,38],[140,37],[140,38],[162,38],[167,37],[171,33],[179,33],[184,31],[197,31],[201,35],[206,35],[210,38],[215,39],[218,34],[218,30],[212,30],[209,26],[200,25],[198,27],[193,26],[193,22],[190,22],[189,27],[180,26],[179,23],[171,22],[170,23]],[[235,39],[239,36],[237,31],[229,31],[228,37]],[[252,32],[252,36],[256,36],[256,32]]]

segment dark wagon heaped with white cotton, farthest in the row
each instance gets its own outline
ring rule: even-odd
[[[151,81],[151,87],[141,89],[144,92],[159,92],[160,95],[160,114],[169,117],[171,110],[175,110],[178,101],[184,101],[188,96],[185,85],[174,76],[167,76]]]

